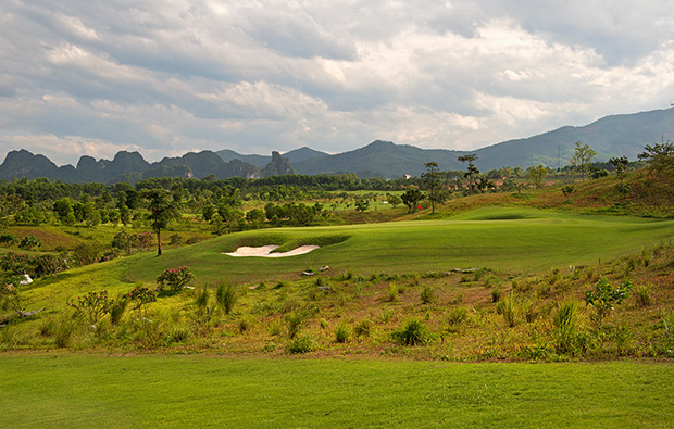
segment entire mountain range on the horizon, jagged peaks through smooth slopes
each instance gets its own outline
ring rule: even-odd
[[[404,174],[417,176],[424,164],[436,162],[441,171],[463,169],[457,159],[467,153],[477,155],[476,166],[483,171],[503,166],[527,168],[542,164],[552,168],[569,164],[575,142],[589,144],[597,161],[625,155],[635,160],[646,144],[674,139],[674,109],[607,116],[582,127],[565,126],[524,139],[503,141],[474,151],[421,149],[374,141],[363,148],[328,154],[300,148],[283,155],[239,154],[232,150],[190,152],[148,163],[138,152],[118,152],[112,161],[83,155],[75,167],[57,166],[48,157],[27,150],[10,151],[0,165],[0,179],[47,177],[65,182],[136,182],[150,177],[260,178],[284,174],[344,174],[361,178],[395,178]]]

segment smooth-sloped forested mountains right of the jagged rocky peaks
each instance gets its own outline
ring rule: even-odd
[[[403,174],[417,176],[425,171],[424,164],[432,161],[442,171],[463,169],[464,166],[457,157],[475,153],[475,165],[483,172],[503,166],[527,168],[538,164],[557,168],[569,164],[576,141],[589,144],[597,151],[596,161],[623,155],[634,161],[646,144],[659,142],[662,138],[674,139],[674,109],[607,116],[586,126],[565,126],[539,136],[509,140],[470,152],[374,141],[365,148],[292,165],[300,174],[355,173],[361,178],[397,178]]]

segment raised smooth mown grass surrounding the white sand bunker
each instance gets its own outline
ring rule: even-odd
[[[673,220],[489,207],[441,220],[253,230],[192,247],[146,254],[128,264],[133,280],[153,281],[172,266],[189,265],[198,279],[263,281],[328,265],[333,273],[423,273],[486,267],[534,273],[610,260],[674,237]],[[321,249],[279,258],[232,257],[239,245],[303,244]],[[153,277],[154,276],[154,277]]]

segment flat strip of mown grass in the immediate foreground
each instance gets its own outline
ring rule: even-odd
[[[0,355],[2,427],[664,428],[674,366]]]

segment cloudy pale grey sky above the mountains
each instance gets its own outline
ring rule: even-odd
[[[474,150],[672,102],[672,0],[0,2],[0,159]]]

